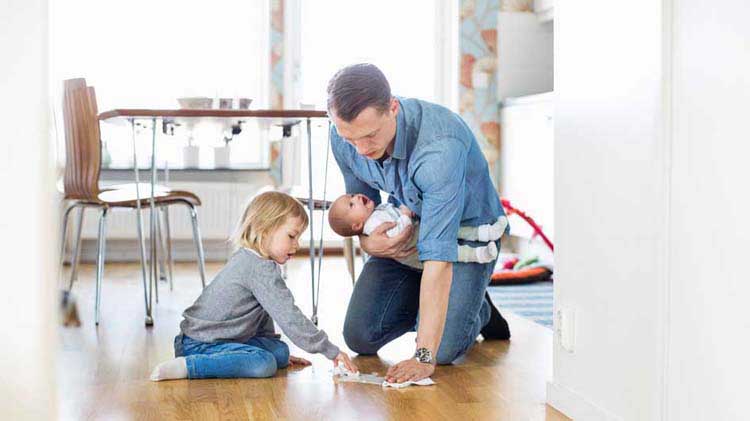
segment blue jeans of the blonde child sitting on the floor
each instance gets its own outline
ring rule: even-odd
[[[176,357],[185,357],[189,379],[271,377],[289,365],[289,347],[276,338],[254,337],[245,343],[205,343],[179,334]]]

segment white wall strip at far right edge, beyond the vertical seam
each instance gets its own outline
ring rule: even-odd
[[[750,4],[675,1],[665,419],[748,419]]]

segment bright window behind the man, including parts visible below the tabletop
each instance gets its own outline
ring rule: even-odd
[[[326,107],[328,80],[354,63],[377,65],[398,96],[457,108],[458,2],[449,0],[301,1],[297,98]],[[295,104],[296,105],[296,104]],[[313,185],[323,192],[327,127],[313,128]],[[307,185],[307,146],[301,145],[301,185]],[[327,198],[344,192],[333,157],[328,158]],[[315,221],[316,231],[320,226]],[[326,233],[326,239],[336,238]]]

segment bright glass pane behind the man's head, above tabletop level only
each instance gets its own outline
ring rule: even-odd
[[[435,101],[434,0],[302,2],[300,101],[325,108],[340,68],[368,62],[396,95]]]

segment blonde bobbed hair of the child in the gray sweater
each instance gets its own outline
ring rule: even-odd
[[[245,208],[232,236],[232,242],[237,248],[247,247],[268,258],[263,240],[284,225],[289,218],[299,218],[303,231],[309,223],[307,212],[297,199],[274,191],[261,193]]]

